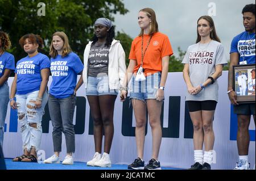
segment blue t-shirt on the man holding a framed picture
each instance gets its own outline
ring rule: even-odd
[[[245,31],[234,37],[230,53],[234,52],[240,54],[240,64],[255,64],[255,33]]]

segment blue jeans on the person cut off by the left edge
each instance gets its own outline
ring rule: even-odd
[[[9,102],[9,86],[7,81],[0,87],[0,145],[3,146],[3,132],[5,131],[5,118]]]

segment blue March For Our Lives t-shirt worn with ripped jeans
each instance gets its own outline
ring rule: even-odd
[[[42,82],[41,70],[50,68],[49,58],[42,53],[34,57],[24,57],[17,62],[15,73],[17,74],[16,94],[28,94],[40,89]]]

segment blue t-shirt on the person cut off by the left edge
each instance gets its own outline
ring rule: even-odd
[[[5,73],[5,69],[15,70],[14,56],[8,52],[3,52],[0,56],[0,78]]]

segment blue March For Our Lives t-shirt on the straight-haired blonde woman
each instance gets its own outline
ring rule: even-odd
[[[71,52],[65,57],[57,55],[51,58],[52,83],[49,93],[57,99],[67,98],[74,93],[77,74],[84,69],[84,65],[77,56]]]

